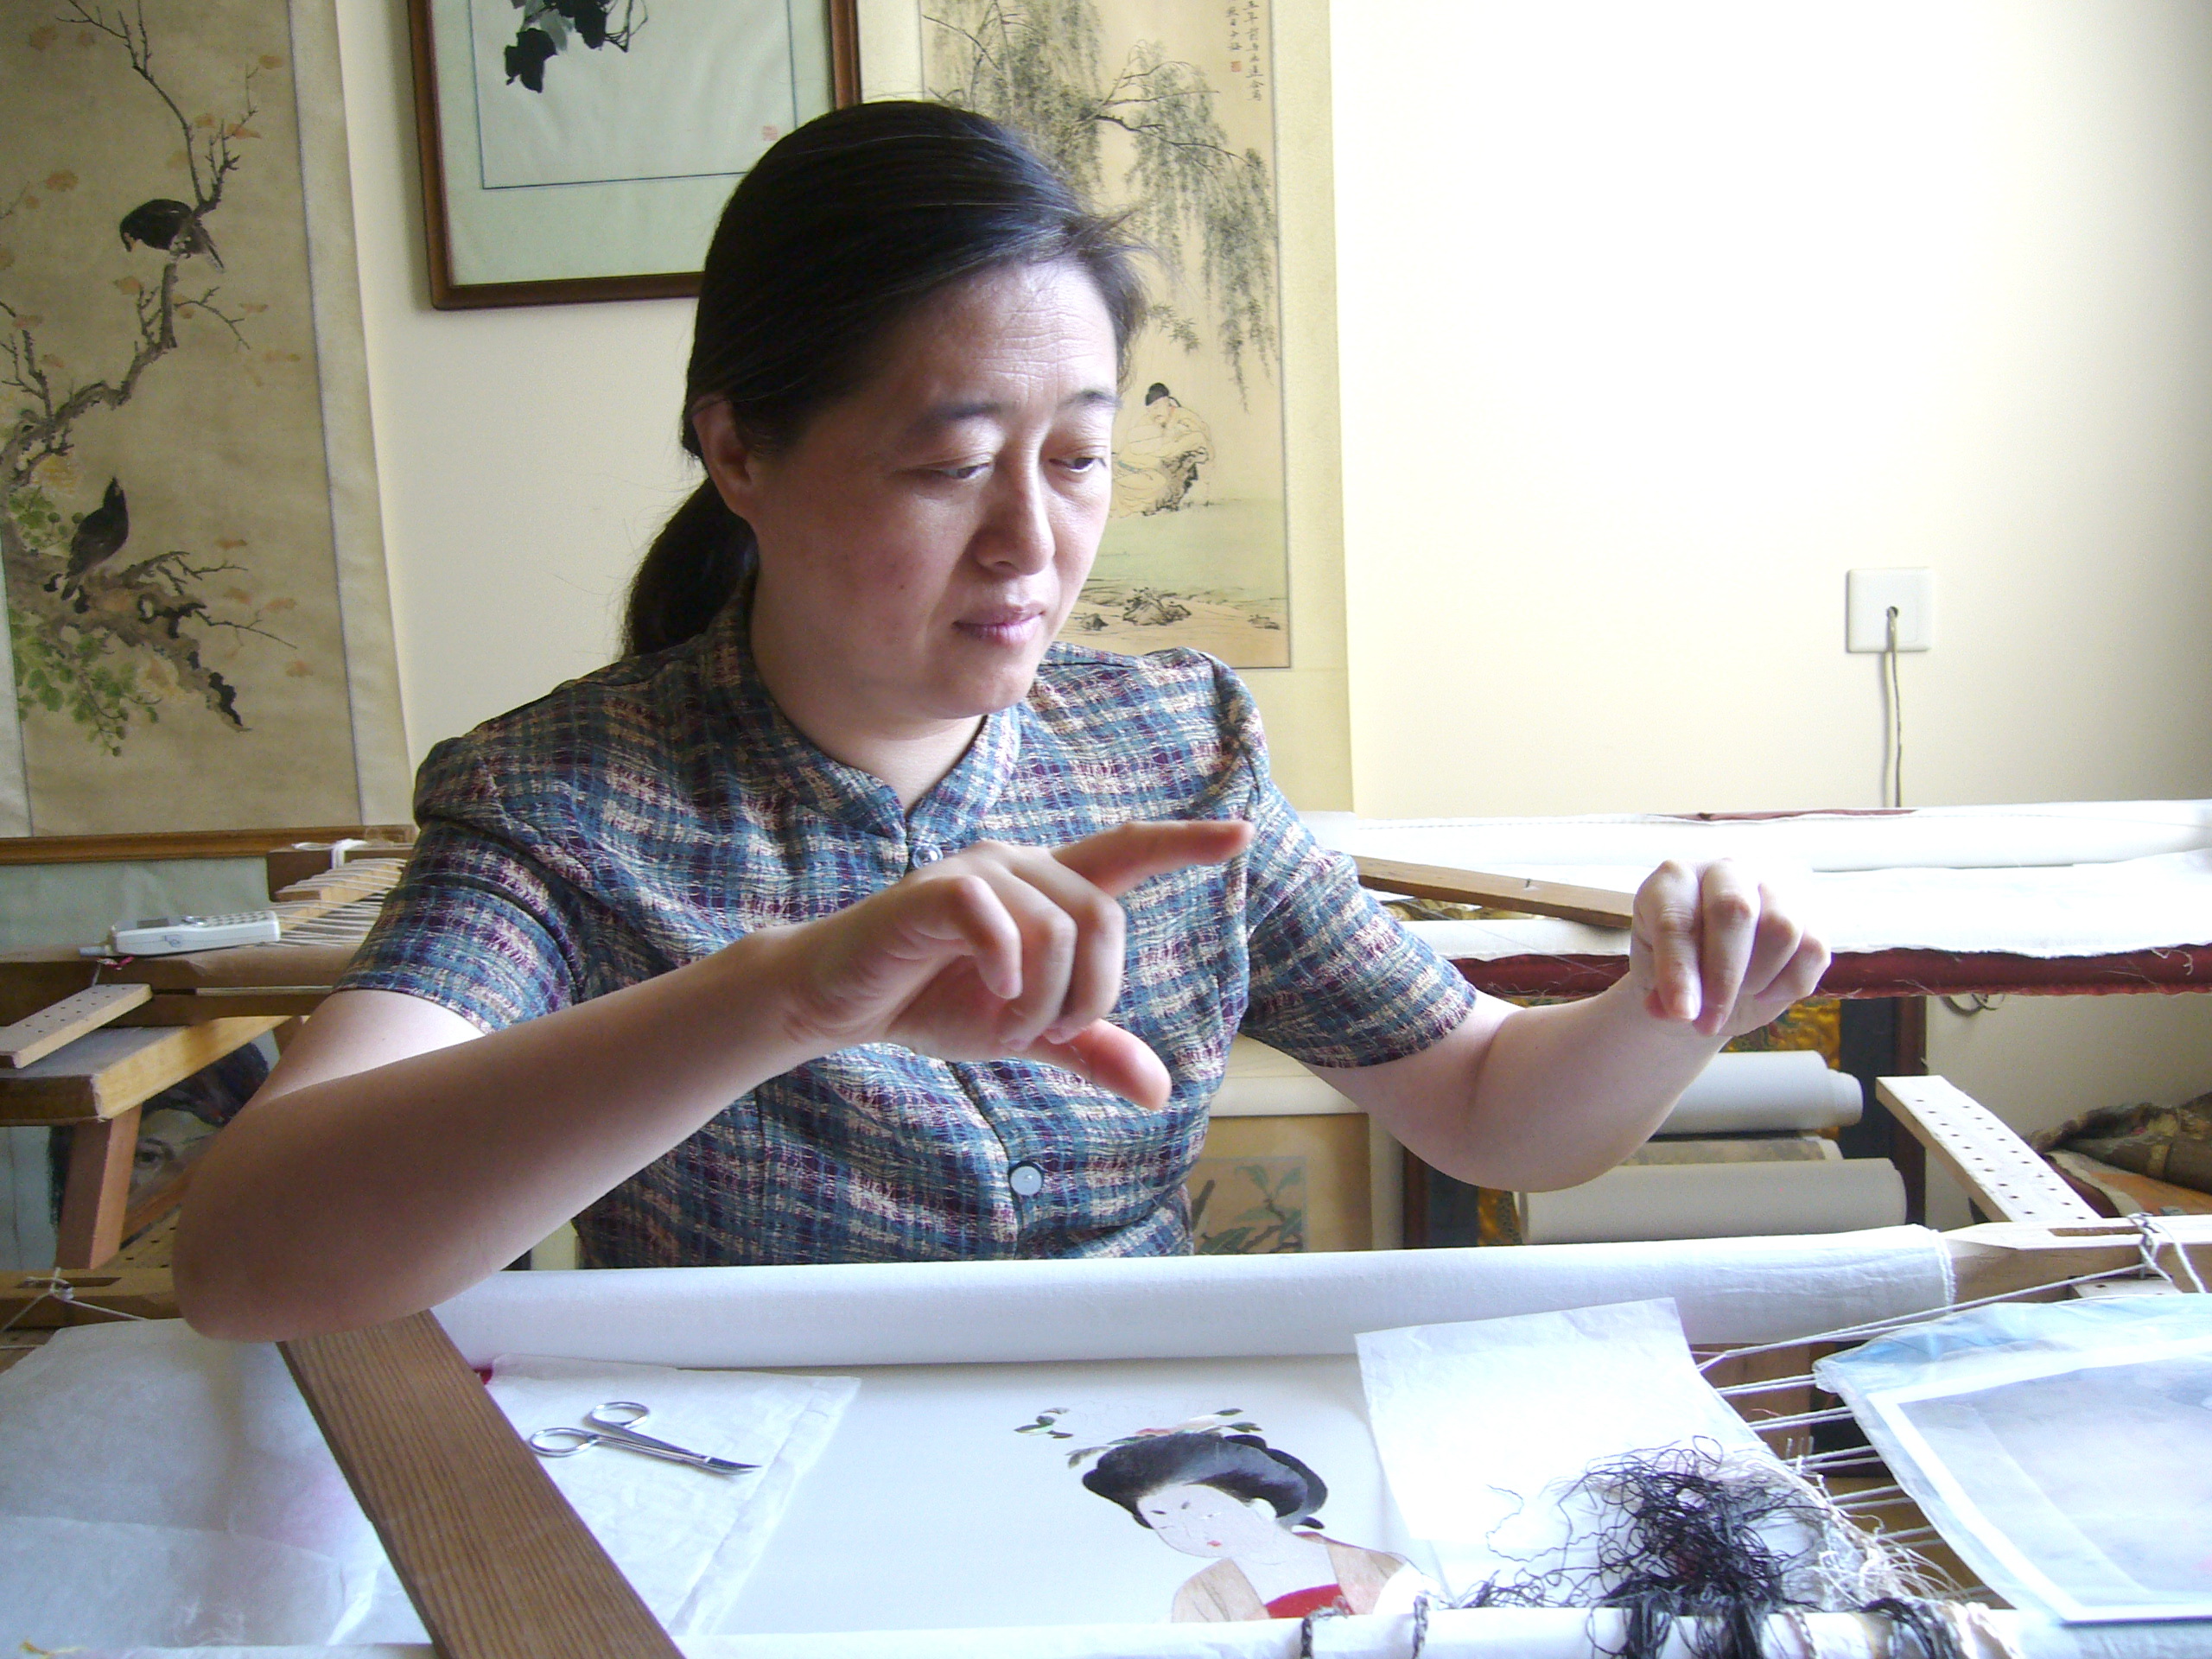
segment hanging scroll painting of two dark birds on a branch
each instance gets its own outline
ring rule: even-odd
[[[330,0],[13,7],[0,84],[0,834],[405,816]]]

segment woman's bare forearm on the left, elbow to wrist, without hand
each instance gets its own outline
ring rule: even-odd
[[[476,1042],[263,1091],[192,1172],[186,1316],[241,1340],[345,1329],[507,1265],[814,1057],[783,1018],[785,938],[752,933]]]

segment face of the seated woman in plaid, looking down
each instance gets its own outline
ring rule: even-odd
[[[1113,495],[1115,338],[1068,263],[960,283],[781,451],[701,414],[761,542],[752,637],[792,712],[896,737],[1020,701]]]

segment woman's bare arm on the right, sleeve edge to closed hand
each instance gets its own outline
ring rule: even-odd
[[[1482,998],[1416,1055],[1314,1071],[1444,1175],[1544,1192],[1628,1157],[1721,1044],[1825,969],[1827,947],[1765,885],[1725,860],[1666,863],[1637,891],[1628,975],[1608,991],[1548,1009]]]

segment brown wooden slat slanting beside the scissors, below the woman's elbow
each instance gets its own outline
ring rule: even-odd
[[[281,1347],[440,1659],[677,1659],[436,1318]]]

